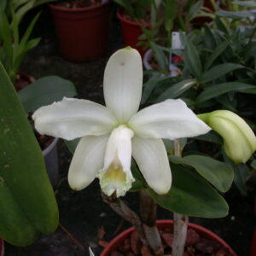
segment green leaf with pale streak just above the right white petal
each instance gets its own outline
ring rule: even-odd
[[[169,89],[164,91],[155,102],[163,102],[166,99],[175,99],[181,96],[183,92],[189,90],[195,85],[195,79],[186,79],[177,84],[172,84]]]

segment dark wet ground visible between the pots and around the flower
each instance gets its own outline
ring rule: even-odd
[[[50,19],[49,14],[43,15]],[[76,85],[79,98],[103,103],[102,78],[108,57],[122,46],[121,33],[117,20],[113,18],[108,52],[97,61],[73,63],[64,60],[59,52],[55,33],[49,20],[41,20],[43,38],[23,62],[21,71],[35,79],[46,75],[58,75],[70,79]],[[40,24],[40,22],[39,22]],[[41,35],[42,36],[42,35]],[[67,184],[67,171],[72,154],[65,144],[58,144],[60,180],[55,186],[55,195],[60,209],[60,227],[54,234],[40,236],[32,246],[14,247],[6,243],[5,256],[80,256],[89,255],[88,246],[99,255],[102,246],[130,224],[125,223],[108,205],[103,203],[97,180],[82,191],[73,192]],[[255,185],[255,183],[254,183]],[[201,224],[223,237],[238,256],[247,256],[253,236],[253,191],[242,197],[231,189],[226,200],[230,213],[226,218],[190,218],[191,222]],[[128,204],[137,207],[137,194],[129,193]],[[159,218],[172,218],[172,213],[159,207]]]

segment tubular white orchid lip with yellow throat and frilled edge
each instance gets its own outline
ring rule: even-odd
[[[117,197],[131,189],[131,137],[133,131],[120,125],[108,139],[104,166],[99,173],[102,190],[107,195],[116,192]]]

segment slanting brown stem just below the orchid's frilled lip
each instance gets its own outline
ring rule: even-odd
[[[108,196],[102,192],[102,199],[113,209],[114,212],[118,213],[119,216],[125,218],[125,220],[133,225],[135,230],[137,230],[143,245],[148,247],[148,241],[143,230],[143,223],[137,214],[115,195]]]

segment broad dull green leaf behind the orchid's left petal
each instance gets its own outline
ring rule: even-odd
[[[38,79],[19,91],[20,101],[27,113],[39,107],[61,101],[64,96],[76,96],[76,89],[71,81],[56,76]]]

